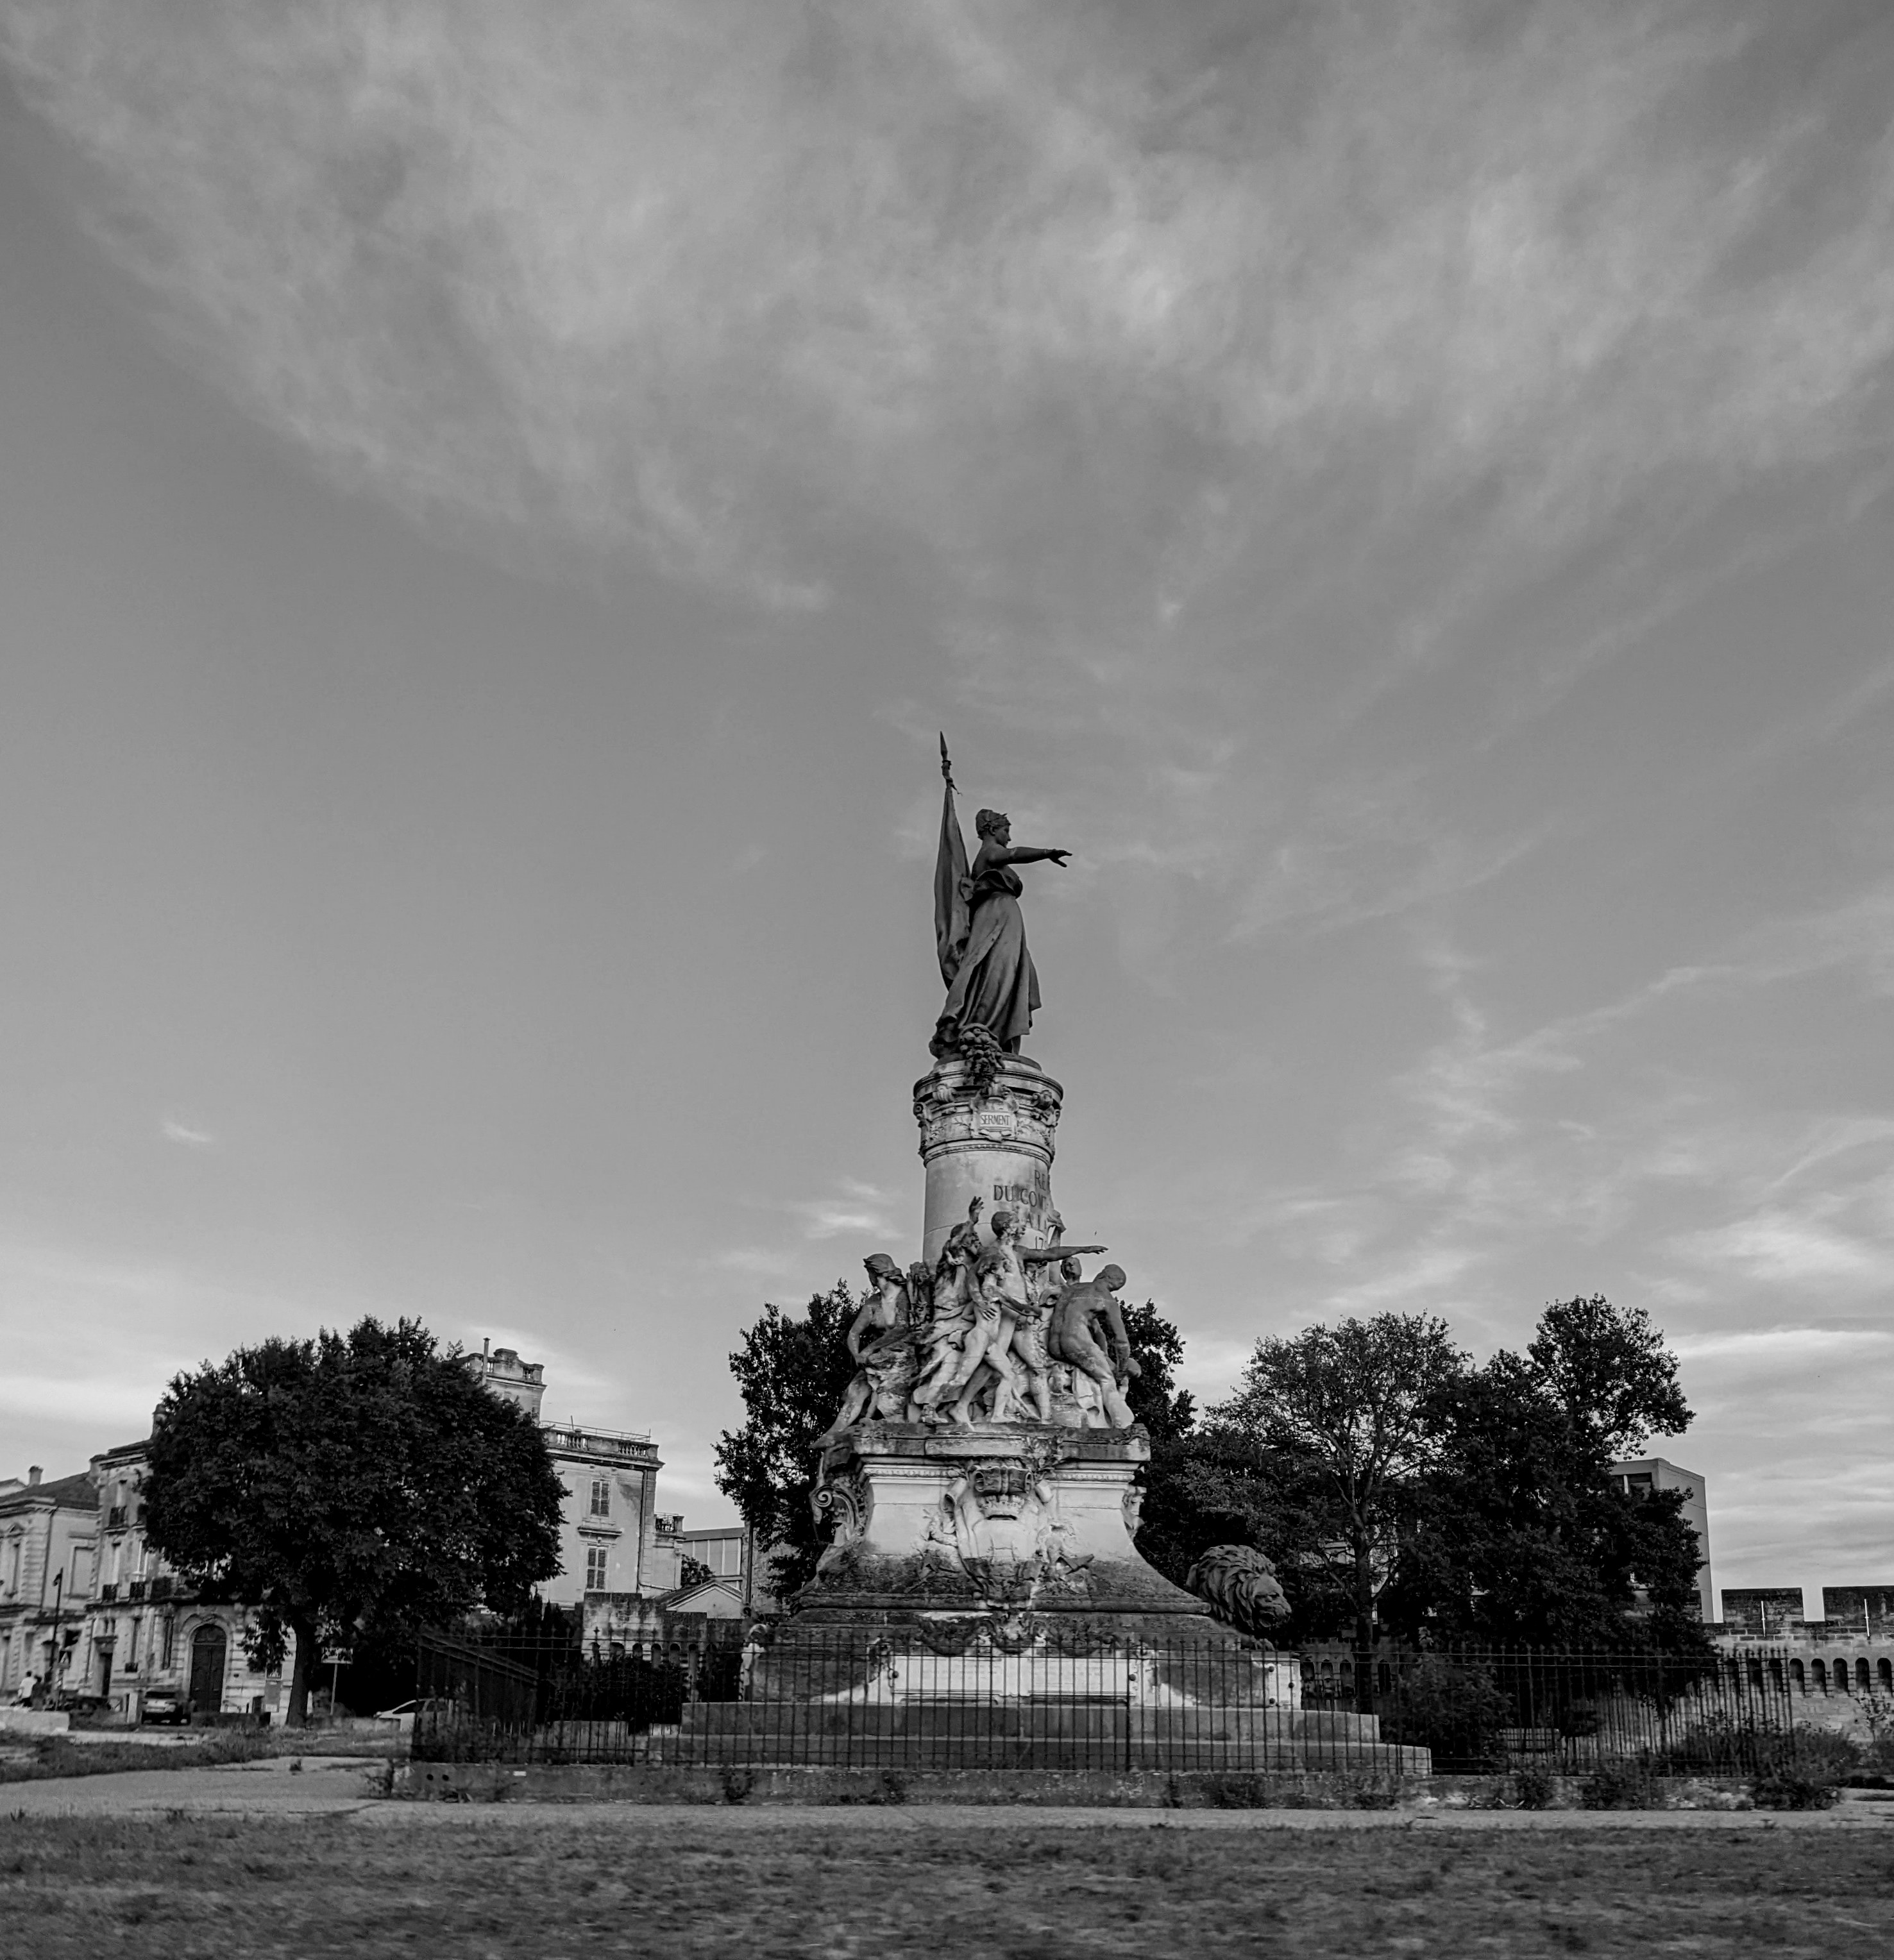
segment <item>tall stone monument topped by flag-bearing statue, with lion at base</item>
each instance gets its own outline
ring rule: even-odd
[[[1269,1562],[1214,1546],[1184,1588],[1135,1543],[1151,1437],[1127,1399],[1125,1272],[1086,1278],[1080,1260],[1106,1249],[1065,1239],[1065,1090],[1020,1053],[1039,984],[1018,866],[1067,853],[1016,849],[982,809],[969,864],[945,739],[941,776],[947,998],[914,1084],[920,1258],[865,1260],[855,1372],[810,1494],[816,1574],[747,1662],[751,1701],[694,1705],[686,1725],[743,1762],[831,1746],[906,1760],[941,1737],[969,1760],[1063,1762],[1102,1735],[1125,1760],[1188,1746],[1206,1764],[1231,1748],[1300,1762],[1300,1670],[1267,1646],[1286,1609]],[[784,1705],[808,1719],[784,1725]]]

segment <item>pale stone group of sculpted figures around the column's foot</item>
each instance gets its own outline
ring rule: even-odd
[[[1129,1429],[1123,1388],[1139,1372],[1125,1337],[1120,1266],[1080,1276],[1102,1245],[1025,1245],[1025,1221],[994,1211],[980,1243],[980,1200],[929,1268],[904,1274],[872,1252],[869,1298],[849,1327],[855,1380],[833,1429],[863,1421],[1020,1421]],[[1092,1409],[1086,1403],[1094,1403]]]

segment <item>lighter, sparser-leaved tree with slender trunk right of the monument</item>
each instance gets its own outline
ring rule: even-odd
[[[1290,1476],[1290,1505],[1310,1531],[1302,1556],[1327,1566],[1353,1609],[1357,1693],[1372,1705],[1374,1595],[1416,1490],[1441,1458],[1431,1415],[1467,1356],[1447,1323],[1380,1313],[1257,1343],[1235,1396],[1210,1427],[1253,1460]],[[1269,1546],[1265,1546],[1267,1550]]]

